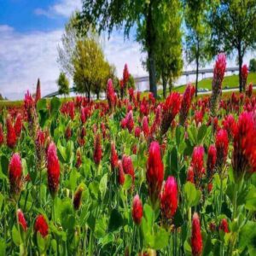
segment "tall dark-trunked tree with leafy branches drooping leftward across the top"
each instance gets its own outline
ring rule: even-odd
[[[161,10],[170,0],[83,0],[83,9],[79,14],[79,28],[96,26],[98,32],[108,30],[108,34],[114,27],[125,28],[125,35],[129,36],[131,27],[136,27],[139,32],[145,27],[143,38],[139,42],[145,45],[148,52],[148,71],[150,91],[157,96],[156,70],[155,70],[155,42],[156,30],[160,25]]]

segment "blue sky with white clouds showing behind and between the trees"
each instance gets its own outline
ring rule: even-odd
[[[36,90],[38,78],[42,95],[57,90],[60,67],[56,62],[57,46],[69,16],[81,9],[80,0],[0,0],[0,93],[10,100],[21,99]],[[127,63],[130,73],[143,76],[140,45],[124,39],[122,31],[104,38],[108,61],[117,67],[119,78]],[[245,62],[248,63],[248,54]],[[234,66],[234,58],[228,67]],[[208,65],[212,66],[212,63]],[[184,69],[194,67],[185,66]]]

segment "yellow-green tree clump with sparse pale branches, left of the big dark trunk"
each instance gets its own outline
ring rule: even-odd
[[[105,60],[100,39],[89,26],[86,32],[78,29],[78,13],[74,13],[65,26],[58,46],[58,63],[61,72],[58,85],[61,94],[67,94],[68,81],[64,73],[73,78],[75,88],[90,97],[93,92],[99,97],[105,90],[108,79],[115,78],[115,67]]]

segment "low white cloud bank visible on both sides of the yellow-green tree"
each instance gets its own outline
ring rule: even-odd
[[[9,99],[23,98],[26,90],[34,92],[41,80],[42,95],[57,90],[55,83],[60,69],[56,62],[57,45],[62,30],[18,33],[12,27],[0,26],[0,93]],[[108,61],[122,76],[125,63],[133,75],[144,74],[139,45],[125,41],[122,34],[113,33],[103,49]]]

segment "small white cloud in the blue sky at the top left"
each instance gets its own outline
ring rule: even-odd
[[[48,9],[35,9],[34,13],[49,18],[54,18],[57,15],[68,18],[74,10],[81,8],[81,0],[59,0],[54,5],[50,5]]]

